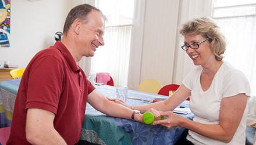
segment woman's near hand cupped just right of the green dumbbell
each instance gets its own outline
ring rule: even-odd
[[[166,128],[170,129],[175,126],[179,126],[180,124],[180,117],[176,115],[175,113],[172,113],[172,111],[162,112],[160,113],[161,116],[167,117],[166,119],[158,119],[153,122],[153,125],[162,125]]]

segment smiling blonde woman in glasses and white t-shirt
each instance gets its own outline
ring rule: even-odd
[[[250,86],[241,71],[222,61],[226,42],[219,27],[211,19],[201,17],[184,23],[180,34],[184,36],[182,49],[197,67],[172,97],[131,108],[152,111],[158,119],[154,125],[189,129],[183,144],[245,144]],[[171,111],[187,97],[190,97],[193,121]],[[159,120],[161,115],[168,118]]]

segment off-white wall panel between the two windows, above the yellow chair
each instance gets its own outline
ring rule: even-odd
[[[178,12],[179,0],[147,1],[140,81],[172,82]]]

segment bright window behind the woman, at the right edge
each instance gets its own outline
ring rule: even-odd
[[[226,37],[223,60],[243,71],[256,95],[256,0],[214,0],[212,17]]]

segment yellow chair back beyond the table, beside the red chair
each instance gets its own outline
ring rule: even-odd
[[[157,94],[162,88],[162,84],[157,79],[145,79],[140,83],[137,90]]]

